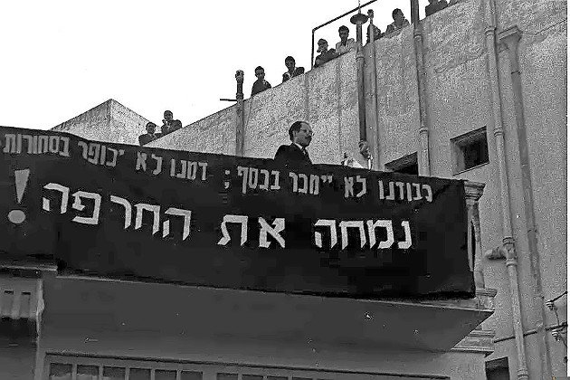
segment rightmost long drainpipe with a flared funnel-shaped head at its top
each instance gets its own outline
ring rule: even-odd
[[[522,82],[520,79],[520,66],[518,62],[518,43],[522,32],[517,25],[499,33],[499,41],[508,50],[510,62],[510,80],[513,88],[513,102],[515,107],[515,121],[517,123],[518,155],[520,159],[521,182],[523,188],[523,204],[525,207],[525,221],[527,223],[528,254],[530,259],[530,271],[532,273],[534,305],[533,309],[540,309],[536,322],[538,334],[538,352],[541,356],[541,366],[543,379],[552,378],[552,364],[547,343],[545,328],[546,308],[545,296],[542,290],[542,279],[540,274],[540,258],[538,256],[537,224],[535,222],[534,199],[532,194],[532,180],[530,175],[530,164],[528,159],[527,127],[525,124],[525,114],[523,106]]]

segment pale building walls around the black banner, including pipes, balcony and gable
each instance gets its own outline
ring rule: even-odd
[[[565,338],[566,298],[547,304],[567,287],[565,14],[556,0],[459,1],[148,144],[272,157],[303,119],[315,132],[314,163],[347,154],[365,166],[364,119],[375,169],[473,183],[476,299],[267,295],[12,263],[2,277],[10,332],[0,371],[36,380],[565,375],[565,346],[553,332]],[[120,121],[106,116],[111,106],[123,109]],[[114,100],[96,109],[106,107],[54,129],[136,144],[146,119]]]

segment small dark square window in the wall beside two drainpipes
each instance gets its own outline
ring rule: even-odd
[[[451,138],[453,174],[489,162],[487,128],[479,128],[457,138]]]

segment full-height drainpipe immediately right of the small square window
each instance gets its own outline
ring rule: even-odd
[[[507,155],[505,153],[505,130],[503,128],[501,115],[502,104],[500,100],[498,56],[495,51],[495,31],[496,21],[494,15],[494,0],[489,0],[486,6],[487,28],[485,29],[487,43],[487,59],[489,68],[489,88],[491,113],[493,116],[493,135],[495,136],[495,147],[499,168],[499,189],[500,189],[500,209],[502,214],[503,230],[503,250],[507,259],[508,284],[510,290],[510,304],[513,316],[513,329],[515,343],[517,346],[517,378],[519,380],[528,379],[527,354],[525,352],[525,340],[522,328],[522,317],[520,310],[520,291],[518,290],[518,269],[517,252],[513,239],[513,228],[511,215],[511,205],[508,185]]]

